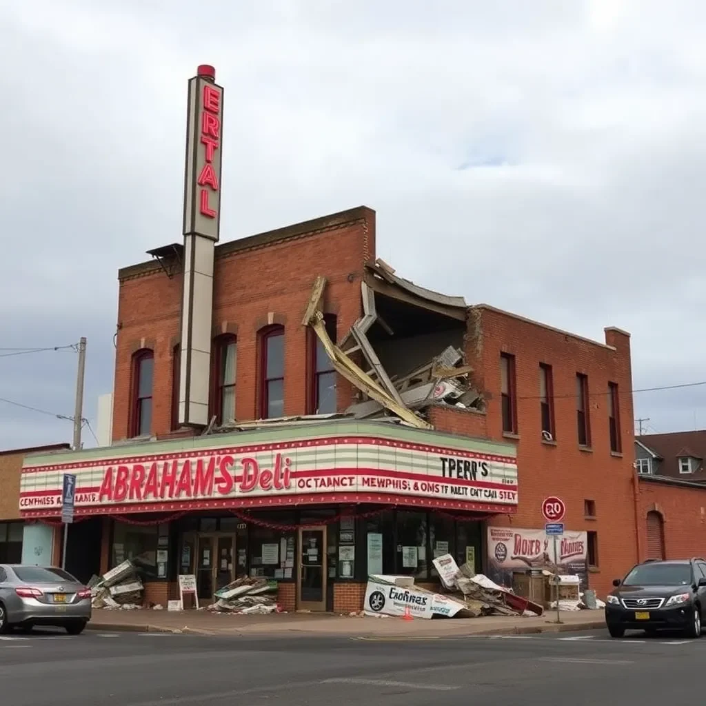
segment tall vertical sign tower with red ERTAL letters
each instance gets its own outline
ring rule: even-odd
[[[208,424],[214,248],[220,231],[223,88],[203,64],[189,80],[184,177],[179,424]]]

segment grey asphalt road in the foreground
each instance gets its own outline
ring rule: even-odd
[[[0,636],[12,706],[692,706],[701,640],[603,631],[444,640]]]

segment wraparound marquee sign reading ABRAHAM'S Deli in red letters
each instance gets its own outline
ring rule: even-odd
[[[250,498],[258,502],[265,497],[330,493],[423,497],[457,501],[455,506],[473,509],[486,505],[512,511],[517,505],[513,457],[389,438],[332,435],[256,444],[231,441],[227,446],[179,453],[145,453],[145,449],[124,453],[51,465],[30,465],[25,460],[20,510],[58,514],[66,472],[76,476],[78,514],[88,507],[149,512],[199,502],[217,507],[213,501],[247,503]]]

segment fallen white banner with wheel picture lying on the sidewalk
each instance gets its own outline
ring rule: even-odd
[[[409,578],[400,577],[403,582]],[[364,611],[369,615],[403,616],[409,608],[412,618],[431,620],[469,617],[464,604],[438,593],[409,585],[395,585],[395,576],[370,576],[365,591]]]

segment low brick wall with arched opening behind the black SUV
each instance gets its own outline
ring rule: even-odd
[[[647,513],[657,510],[664,520],[664,551],[668,559],[706,557],[706,487],[640,481],[638,529],[640,560],[647,558]],[[616,573],[618,578],[630,568]]]

